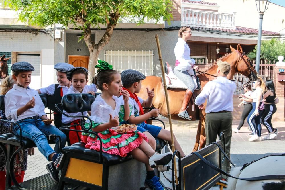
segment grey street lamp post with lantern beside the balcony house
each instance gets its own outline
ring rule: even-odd
[[[259,14],[259,29],[258,29],[258,40],[257,40],[257,52],[256,52],[256,62],[255,70],[259,72],[260,63],[260,46],[261,46],[261,33],[262,33],[262,19],[263,13],[268,9],[268,5],[271,0],[255,0],[256,8]]]

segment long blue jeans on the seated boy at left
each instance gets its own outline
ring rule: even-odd
[[[17,123],[21,126],[22,137],[32,140],[38,147],[40,153],[42,153],[42,155],[44,155],[47,160],[49,160],[48,156],[50,154],[55,152],[60,153],[60,150],[66,144],[66,135],[55,126],[44,124],[41,119],[23,119],[17,121]],[[15,134],[20,135],[20,129],[17,125],[13,126],[13,131]],[[50,147],[47,140],[47,136],[50,134],[60,136],[62,147],[59,147],[59,138],[56,138],[55,140],[56,145],[54,147],[54,150]]]

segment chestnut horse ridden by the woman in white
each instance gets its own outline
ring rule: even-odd
[[[228,79],[233,79],[235,73],[241,73],[251,79],[251,81],[257,80],[257,72],[253,68],[253,65],[251,64],[249,58],[243,53],[243,50],[241,46],[237,45],[237,50],[231,47],[232,53],[226,54],[223,57],[219,58],[219,60],[226,61],[229,64],[231,64],[231,71],[227,75]],[[216,62],[213,63],[205,73],[216,75],[217,73],[217,64]],[[207,74],[200,74],[197,75],[200,79],[201,83],[201,90],[205,86],[205,84],[210,81],[214,80],[215,78],[213,76],[207,75]],[[139,97],[146,99],[147,98],[147,91],[146,87],[148,89],[154,88],[154,94],[155,97],[153,98],[153,106],[160,110],[160,114],[164,117],[167,117],[167,106],[166,106],[166,100],[165,100],[165,93],[164,93],[164,87],[162,85],[161,77],[156,76],[148,76],[145,80],[142,81],[142,88],[139,93]],[[199,95],[201,93],[201,90],[195,91],[196,95]],[[170,103],[170,114],[171,118],[174,120],[184,120],[177,116],[178,112],[181,109],[182,101],[184,99],[186,89],[173,89],[173,90],[167,90],[168,92],[168,99]],[[205,104],[206,105],[206,104]],[[191,106],[190,106],[191,108]],[[194,145],[193,151],[197,151],[200,144],[200,149],[205,147],[206,144],[206,133],[205,133],[205,109],[200,110],[196,109],[199,113],[193,113],[192,109],[188,109],[189,115],[195,117],[195,115],[200,116],[198,129],[197,129],[197,135],[196,135],[196,142]],[[191,113],[192,112],[192,113]]]

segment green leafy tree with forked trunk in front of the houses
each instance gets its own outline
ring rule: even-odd
[[[89,81],[94,76],[99,52],[110,41],[119,17],[128,17],[138,24],[146,20],[172,18],[172,0],[0,0],[4,5],[19,11],[19,20],[42,27],[62,24],[83,30],[82,38],[90,52]],[[96,44],[91,29],[106,26],[105,33]]]

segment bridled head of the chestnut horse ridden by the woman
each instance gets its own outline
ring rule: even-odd
[[[253,82],[257,80],[258,73],[253,67],[253,65],[251,64],[249,57],[247,57],[245,53],[243,52],[241,45],[238,44],[237,49],[233,48],[232,46],[230,46],[230,48],[232,51],[231,56],[226,57],[227,62],[233,63],[231,65],[231,73],[229,77],[233,77],[235,73],[239,72],[245,75],[246,77],[248,77],[249,82]],[[229,60],[229,59],[232,59],[232,60]]]

